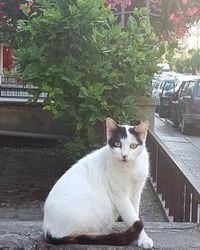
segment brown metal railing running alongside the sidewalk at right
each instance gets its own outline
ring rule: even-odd
[[[200,223],[200,181],[192,183],[191,176],[182,171],[172,151],[151,131],[147,147],[151,179],[168,215],[173,216],[175,222]]]

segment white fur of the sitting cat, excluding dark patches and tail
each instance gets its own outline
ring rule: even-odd
[[[44,235],[76,236],[107,233],[121,215],[127,226],[139,219],[142,188],[148,176],[145,144],[131,149],[136,138],[128,132],[122,148],[109,145],[92,152],[72,166],[54,185],[44,206]],[[128,155],[122,161],[122,155]],[[153,247],[141,232],[138,245]]]

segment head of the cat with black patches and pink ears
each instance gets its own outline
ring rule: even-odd
[[[138,126],[118,125],[111,118],[106,119],[107,142],[115,159],[122,163],[137,158],[144,150],[149,121]]]

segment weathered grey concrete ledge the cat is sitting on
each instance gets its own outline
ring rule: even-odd
[[[52,246],[43,240],[41,227],[41,221],[0,221],[0,249],[139,249],[135,245],[128,247],[88,245]],[[198,224],[149,222],[145,223],[145,227],[149,236],[154,240],[154,249],[200,249],[200,227]],[[116,223],[113,230],[119,231],[124,230],[124,228],[123,223]]]

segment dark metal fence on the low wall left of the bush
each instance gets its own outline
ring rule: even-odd
[[[0,84],[1,98],[30,98],[33,91],[37,91],[37,86],[16,82],[13,77],[2,77]],[[47,93],[40,93],[39,99],[45,99]]]

